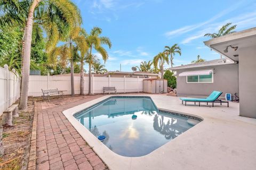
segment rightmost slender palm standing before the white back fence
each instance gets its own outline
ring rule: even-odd
[[[87,61],[89,62],[89,92],[88,94],[91,95],[91,75],[92,75],[92,49],[95,49],[98,53],[101,54],[102,59],[106,62],[108,59],[108,53],[105,48],[102,47],[102,45],[107,45],[109,48],[111,48],[111,41],[108,37],[99,37],[102,30],[99,27],[94,27],[89,35],[86,35],[86,43],[89,47],[89,54],[87,55]]]

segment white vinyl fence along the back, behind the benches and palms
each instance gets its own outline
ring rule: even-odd
[[[92,94],[103,93],[103,87],[116,87],[117,92],[141,92],[143,90],[144,78],[115,78],[115,77],[93,77]],[[80,93],[80,77],[74,77],[75,94]],[[89,77],[84,77],[84,94],[88,93]],[[41,89],[65,90],[65,95],[71,94],[70,76],[67,75],[30,75],[29,96],[42,96]]]

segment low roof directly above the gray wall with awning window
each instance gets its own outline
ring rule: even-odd
[[[226,58],[216,59],[216,60],[210,60],[210,61],[205,61],[201,63],[193,63],[193,64],[186,64],[186,65],[171,67],[168,70],[190,69],[195,67],[206,67],[206,66],[223,65],[223,64],[234,64],[234,62]]]

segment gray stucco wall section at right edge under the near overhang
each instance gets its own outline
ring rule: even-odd
[[[256,118],[256,46],[239,49],[240,115]]]

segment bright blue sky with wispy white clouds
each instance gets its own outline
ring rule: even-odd
[[[81,10],[83,28],[102,28],[111,39],[107,49],[109,71],[131,71],[141,61],[153,60],[164,46],[178,43],[182,55],[175,66],[188,64],[200,55],[205,60],[220,57],[204,46],[205,33],[217,32],[227,22],[236,31],[256,27],[256,1],[164,1],[164,0],[74,0]],[[101,57],[98,53],[95,55]],[[165,67],[169,67],[165,65]],[[85,66],[87,71],[87,66]]]

